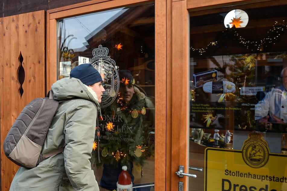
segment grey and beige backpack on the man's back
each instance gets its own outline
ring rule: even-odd
[[[64,151],[60,148],[42,155],[42,148],[59,103],[68,100],[54,100],[50,90],[45,98],[35,98],[28,103],[9,130],[3,148],[5,155],[15,164],[34,168],[45,158]]]

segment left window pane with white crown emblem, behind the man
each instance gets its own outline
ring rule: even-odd
[[[57,29],[58,78],[91,63],[104,79],[103,119],[91,158],[100,190],[117,189],[122,166],[127,166],[133,190],[153,189],[154,4],[61,19]]]

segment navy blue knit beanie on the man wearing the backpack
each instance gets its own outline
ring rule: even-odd
[[[103,81],[100,73],[92,64],[80,64],[74,67],[70,72],[70,77],[81,80],[87,86]]]

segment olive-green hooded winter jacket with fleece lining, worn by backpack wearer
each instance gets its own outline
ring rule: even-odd
[[[91,170],[97,112],[96,93],[76,78],[64,78],[52,85],[54,99],[73,99],[59,104],[49,128],[42,154],[65,147],[32,169],[20,167],[10,190],[84,190],[98,191]]]

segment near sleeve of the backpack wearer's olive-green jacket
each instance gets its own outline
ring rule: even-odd
[[[78,99],[68,114],[65,133],[65,170],[75,190],[98,191],[94,171],[91,170],[97,109],[88,101]]]

